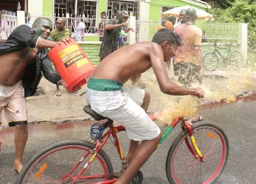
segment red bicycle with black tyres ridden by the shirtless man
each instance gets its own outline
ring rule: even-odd
[[[30,158],[17,183],[115,183],[125,168],[118,132],[125,127],[114,126],[109,118],[84,107],[95,120],[107,119],[105,124],[91,126],[93,143],[66,140],[49,144]],[[156,120],[155,116],[151,116]],[[170,183],[214,183],[221,175],[229,157],[229,141],[221,127],[214,124],[191,124],[183,117],[176,118],[163,133],[159,145],[181,123],[182,132],[173,141],[167,153],[166,174]],[[108,130],[105,132],[104,130]],[[111,141],[108,141],[111,140]],[[114,171],[103,146],[112,142],[120,158],[120,171]],[[138,171],[131,183],[142,183]]]

